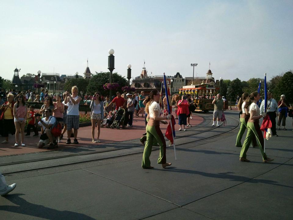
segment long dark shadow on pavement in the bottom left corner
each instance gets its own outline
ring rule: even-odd
[[[10,202],[16,204],[17,206],[0,206],[0,210],[20,213],[29,216],[35,216],[39,218],[51,219],[51,220],[60,220],[60,219],[85,219],[85,220],[94,220],[87,215],[72,212],[72,211],[59,211],[56,209],[48,208],[42,205],[36,205],[27,202],[20,196],[25,194],[10,194],[5,196]]]

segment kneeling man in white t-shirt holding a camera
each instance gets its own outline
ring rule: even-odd
[[[50,108],[46,108],[44,113],[45,113],[44,118],[41,119],[41,117],[38,116],[38,121],[39,121],[38,126],[42,127],[42,134],[40,137],[40,141],[38,143],[38,148],[42,148],[50,142],[48,149],[54,149],[57,146],[54,145],[54,142],[53,142],[51,127],[56,123],[56,119],[55,117],[50,116],[52,113],[52,110]]]

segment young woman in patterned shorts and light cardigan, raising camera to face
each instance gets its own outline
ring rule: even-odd
[[[93,95],[91,105],[89,107],[92,109],[92,142],[99,143],[101,121],[104,119],[104,102],[102,101],[101,94],[99,92],[96,92]],[[97,127],[97,140],[95,140],[95,126]]]

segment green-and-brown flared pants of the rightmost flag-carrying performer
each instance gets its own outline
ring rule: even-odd
[[[246,152],[248,151],[248,148],[251,144],[251,140],[252,140],[253,136],[256,137],[256,141],[259,144],[259,149],[262,154],[262,158],[264,160],[266,160],[268,157],[263,152],[264,139],[263,139],[263,134],[262,134],[262,131],[260,130],[258,121],[247,123],[247,134],[246,134],[246,138],[243,142],[243,146],[241,148],[240,157],[246,158]]]

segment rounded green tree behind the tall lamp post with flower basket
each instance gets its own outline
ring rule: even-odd
[[[103,96],[109,95],[109,90],[104,90],[103,85],[107,82],[110,82],[110,72],[100,72],[92,75],[92,78],[89,81],[89,85],[87,87],[88,94],[94,94],[99,91]],[[121,91],[123,86],[126,86],[125,76],[119,75],[117,72],[112,74],[112,82],[117,82],[119,84],[119,88],[117,91]],[[117,91],[112,91],[113,95],[116,95]]]

